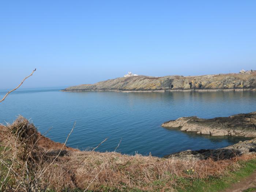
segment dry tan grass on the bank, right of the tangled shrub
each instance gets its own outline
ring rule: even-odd
[[[184,161],[174,158],[145,157],[139,154],[129,156],[119,153],[79,151],[68,153],[59,159],[45,178],[54,181],[51,187],[84,189],[92,182],[90,185],[92,190],[98,189],[101,185],[107,185],[118,189],[126,186],[143,191],[154,191],[158,189],[155,185],[156,181],[165,182],[165,187],[170,189],[176,185],[177,176],[191,178],[223,176],[227,170],[239,168],[237,161],[254,157],[255,155],[244,155],[230,160]],[[187,170],[194,170],[194,172],[188,174]],[[164,188],[161,189],[163,190]]]

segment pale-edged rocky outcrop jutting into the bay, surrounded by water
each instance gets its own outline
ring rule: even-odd
[[[212,119],[181,117],[163,123],[162,127],[180,128],[181,131],[213,136],[256,137],[256,112]]]

